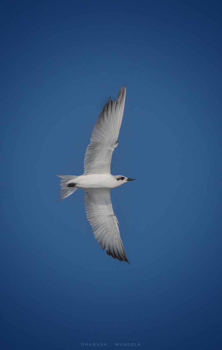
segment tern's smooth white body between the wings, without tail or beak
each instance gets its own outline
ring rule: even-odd
[[[115,177],[111,174],[88,174],[80,175],[75,179],[71,179],[67,182],[75,183],[75,187],[79,188],[115,188],[122,185],[122,181],[116,181]]]

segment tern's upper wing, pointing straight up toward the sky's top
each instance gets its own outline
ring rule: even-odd
[[[117,101],[109,98],[94,125],[90,144],[84,159],[84,174],[110,173],[110,163],[114,148],[118,145],[118,135],[123,118],[126,86],[120,89]]]

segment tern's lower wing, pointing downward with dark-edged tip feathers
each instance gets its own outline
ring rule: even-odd
[[[85,191],[85,209],[95,239],[108,255],[118,260],[128,261],[125,254],[118,220],[114,215],[109,189],[90,189]]]

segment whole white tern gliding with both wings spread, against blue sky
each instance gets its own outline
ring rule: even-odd
[[[131,177],[110,174],[110,163],[114,148],[118,145],[118,135],[123,118],[126,86],[121,87],[117,100],[111,100],[99,115],[94,125],[90,144],[84,159],[84,174],[57,175],[61,177],[60,201],[70,196],[78,188],[85,192],[85,210],[95,239],[102,249],[114,259],[128,262],[120,237],[119,223],[114,215],[110,189],[119,187]]]

